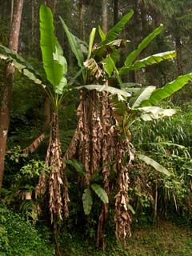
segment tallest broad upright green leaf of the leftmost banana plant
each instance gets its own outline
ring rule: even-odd
[[[66,86],[66,59],[62,56],[62,48],[54,36],[53,15],[45,5],[40,7],[40,46],[46,77],[54,92],[62,94],[63,87]]]

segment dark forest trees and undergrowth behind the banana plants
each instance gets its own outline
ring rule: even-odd
[[[18,1],[0,1],[0,43],[3,46],[9,45],[9,30],[11,20],[13,20],[15,2]],[[173,81],[179,75],[188,74],[192,70],[192,3],[190,1],[24,1],[18,53],[32,63],[44,78],[46,78],[46,74],[42,68],[42,52],[39,43],[39,9],[45,3],[50,6],[53,12],[55,34],[58,42],[62,45],[64,56],[68,63],[68,79],[78,72],[78,66],[59,16],[62,17],[75,36],[82,41],[89,42],[90,31],[93,27],[100,25],[102,30],[106,32],[130,10],[134,10],[134,15],[121,34],[121,38],[126,38],[129,42],[122,50],[118,65],[121,65],[122,59],[133,51],[139,42],[160,24],[164,25],[162,33],[154,38],[150,46],[139,54],[139,59],[170,50],[176,50],[177,57],[171,61],[147,66],[145,69],[130,71],[124,78],[126,82],[133,82],[132,85],[136,89],[141,86],[143,88],[145,86],[162,88],[167,82]],[[95,38],[95,42],[97,41],[99,42],[98,34],[96,34]],[[2,61],[0,65],[2,98],[6,63]],[[116,86],[113,79],[111,79],[111,86]],[[166,101],[160,103],[159,106],[164,108],[177,109],[177,114],[173,117],[159,118],[150,122],[135,119],[134,124],[130,127],[131,144],[134,145],[134,149],[153,158],[172,174],[169,177],[160,170],[147,166],[146,162],[141,162],[138,158],[134,159],[133,169],[129,173],[130,187],[128,192],[129,211],[133,218],[133,226],[157,223],[160,219],[171,220],[172,222],[177,220],[176,222],[180,224],[191,225],[192,161],[190,156],[192,153],[192,105],[190,86],[191,83],[187,84],[182,90],[172,95],[171,98],[167,98]],[[14,74],[12,95],[10,127],[6,142],[5,171],[1,191],[2,215],[4,214],[3,216],[6,218],[6,214],[9,212],[13,214],[14,217],[11,218],[15,218],[15,222],[22,222],[16,214],[22,213],[28,222],[34,223],[40,230],[44,229],[43,236],[47,243],[51,239],[54,240],[58,254],[61,254],[58,244],[62,243],[64,238],[72,239],[72,234],[75,232],[83,234],[83,237],[89,242],[97,240],[98,216],[102,207],[100,200],[102,196],[99,199],[96,195],[92,195],[94,201],[93,209],[88,218],[86,218],[82,203],[82,194],[85,193],[85,190],[82,187],[79,188],[79,181],[76,177],[77,174],[79,175],[84,170],[81,162],[75,162],[74,160],[74,162],[68,162],[67,166],[66,177],[69,182],[70,217],[64,218],[62,226],[57,223],[53,228],[50,225],[50,214],[47,205],[42,210],[41,215],[37,214],[34,190],[38,184],[38,178],[45,168],[44,160],[50,138],[50,130],[46,130],[46,128],[51,121],[51,106],[42,86],[35,85],[22,74],[19,74],[17,70],[15,70]],[[75,91],[69,98],[66,98],[65,102],[62,103],[61,110],[59,110],[60,139],[63,155],[70,146],[78,124],[78,116],[76,114],[78,104],[79,94],[78,91]],[[45,139],[37,149],[36,145],[33,144],[35,150],[32,154],[28,154],[29,151],[25,150],[34,142],[35,138],[39,138],[38,136],[42,134],[42,130],[46,130]],[[27,154],[23,154],[23,152]],[[111,179],[113,178],[117,177],[114,176]],[[98,182],[97,184],[102,184],[99,177],[95,181]],[[30,200],[26,198],[26,192],[29,191],[32,193]],[[114,190],[114,194],[115,192],[117,191]],[[113,206],[114,202],[111,202],[111,205]],[[10,212],[10,210],[13,212]],[[8,234],[11,234],[15,229],[14,225],[18,226],[18,224],[11,223],[10,219],[8,222],[12,227],[6,226],[6,221],[3,218],[0,226],[2,252],[5,251],[5,255],[14,255],[12,252],[13,246],[12,248],[9,246],[11,238]],[[25,222],[22,225],[25,225]],[[24,229],[27,228],[29,227],[24,227]],[[9,229],[10,231],[7,231]],[[115,230],[113,207],[110,208],[105,229],[105,235],[107,234],[107,237],[111,237],[111,230]],[[54,234],[50,230],[54,230]],[[53,250],[53,248],[47,249],[43,239],[38,239],[37,244],[41,244],[43,249],[37,250],[47,250],[45,255],[48,255],[48,251]],[[103,243],[102,246],[105,247]],[[99,244],[100,242],[98,242]],[[31,248],[29,249],[30,251],[32,250]],[[21,248],[17,250],[22,253]],[[26,249],[24,248],[23,250]]]

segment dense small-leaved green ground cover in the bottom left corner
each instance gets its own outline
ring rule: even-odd
[[[0,255],[52,255],[49,241],[43,239],[30,222],[2,205],[0,216]]]

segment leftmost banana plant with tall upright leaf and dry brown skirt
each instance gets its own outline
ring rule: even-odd
[[[40,46],[42,50],[42,62],[46,72],[46,81],[43,81],[38,71],[34,69],[24,58],[14,54],[5,46],[0,46],[3,54],[0,58],[8,62],[13,62],[14,66],[34,81],[43,86],[52,106],[52,122],[50,128],[50,142],[46,153],[46,169],[50,171],[50,177],[43,172],[40,175],[37,194],[45,194],[47,190],[46,182],[49,180],[50,194],[50,214],[51,222],[54,218],[62,219],[62,208],[67,217],[68,212],[68,190],[66,185],[66,175],[63,172],[62,150],[59,138],[58,110],[67,93],[67,63],[63,56],[62,47],[54,35],[53,15],[49,7],[40,7]],[[8,57],[7,57],[8,56]],[[62,194],[64,196],[62,197]]]

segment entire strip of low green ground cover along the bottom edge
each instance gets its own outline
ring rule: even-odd
[[[1,256],[190,256],[192,250],[192,230],[182,218],[177,223],[159,221],[134,223],[132,237],[123,248],[114,235],[108,234],[106,250],[98,249],[94,239],[87,234],[65,230],[58,234],[58,245],[53,241],[53,233],[45,225],[37,229],[12,210],[1,206],[0,255]],[[59,248],[59,250],[58,250]]]

